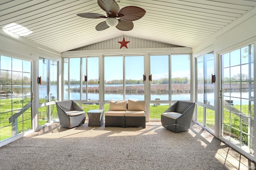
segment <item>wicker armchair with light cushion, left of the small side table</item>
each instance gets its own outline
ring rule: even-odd
[[[56,102],[60,125],[73,128],[84,124],[85,112],[72,100]]]

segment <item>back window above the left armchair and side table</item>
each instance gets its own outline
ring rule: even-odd
[[[99,57],[64,58],[63,80],[64,100],[98,101]]]

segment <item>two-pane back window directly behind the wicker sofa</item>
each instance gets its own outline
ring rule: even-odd
[[[104,100],[144,100],[144,56],[104,57]]]

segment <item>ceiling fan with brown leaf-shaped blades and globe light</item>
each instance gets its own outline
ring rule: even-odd
[[[121,31],[130,31],[133,29],[132,21],[138,20],[146,14],[144,9],[137,6],[126,6],[120,10],[118,4],[114,0],[98,0],[98,5],[102,10],[106,11],[107,16],[96,13],[76,14],[77,16],[84,18],[107,18],[106,21],[96,25],[95,28],[97,31],[102,31],[109,27],[116,27]]]

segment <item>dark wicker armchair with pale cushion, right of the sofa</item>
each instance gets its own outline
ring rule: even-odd
[[[162,126],[174,132],[183,132],[190,128],[195,103],[178,101],[161,115]]]

